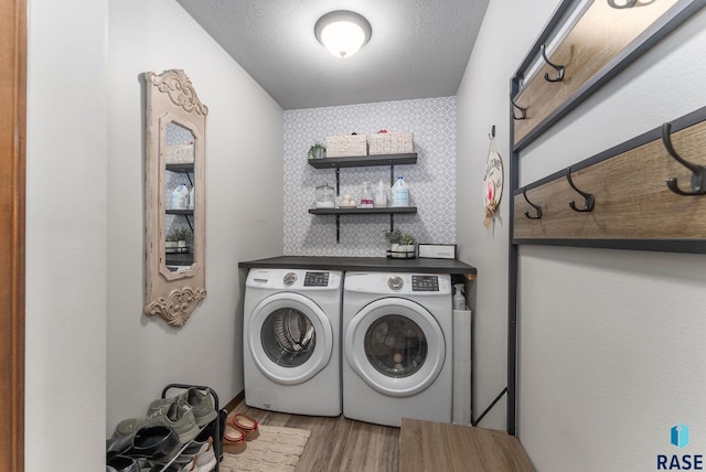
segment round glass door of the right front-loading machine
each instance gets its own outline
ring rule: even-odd
[[[441,326],[424,307],[407,299],[376,300],[345,331],[351,368],[375,390],[416,395],[436,380],[446,358]]]

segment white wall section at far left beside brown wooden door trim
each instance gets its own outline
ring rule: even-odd
[[[103,470],[108,2],[28,3],[24,463]]]

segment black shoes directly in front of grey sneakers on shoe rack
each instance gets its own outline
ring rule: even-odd
[[[143,458],[169,462],[179,454],[180,448],[179,436],[173,429],[167,426],[149,426],[140,428],[133,435],[108,439],[106,455],[108,461],[124,455],[131,459]],[[127,461],[115,460],[119,463],[127,463]],[[115,465],[113,468],[116,469]],[[132,472],[130,469],[127,471]]]

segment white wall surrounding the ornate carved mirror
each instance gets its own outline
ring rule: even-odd
[[[282,109],[173,0],[110,2],[106,431],[164,385],[243,389],[240,260],[282,253]],[[206,299],[174,329],[142,314],[143,85],[182,68],[206,118]]]

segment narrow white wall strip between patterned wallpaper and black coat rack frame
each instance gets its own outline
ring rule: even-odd
[[[478,268],[468,285],[473,310],[473,418],[507,385],[507,210],[505,190],[489,229],[483,225],[483,173],[489,133],[495,126],[495,146],[510,169],[510,77],[554,11],[556,0],[491,0],[471,60],[458,93],[457,238],[459,256]],[[506,397],[480,426],[505,429]]]

